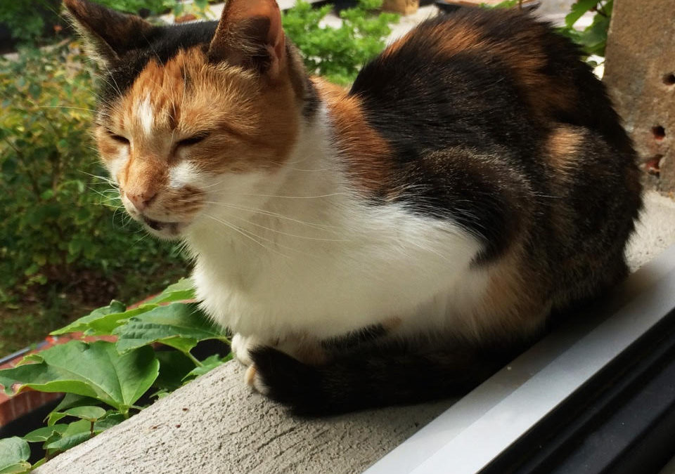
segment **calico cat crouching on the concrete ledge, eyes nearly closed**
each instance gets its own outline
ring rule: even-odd
[[[173,26],[65,6],[125,208],[186,242],[246,382],[296,413],[463,393],[626,275],[631,142],[528,15],[427,20],[345,91],[307,76],[274,0]]]

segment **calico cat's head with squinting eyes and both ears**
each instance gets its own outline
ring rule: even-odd
[[[104,71],[94,133],[134,219],[180,237],[216,202],[270,194],[311,88],[276,1],[229,0],[219,22],[172,26],[64,3]]]

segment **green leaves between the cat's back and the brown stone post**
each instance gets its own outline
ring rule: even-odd
[[[558,31],[577,43],[586,56],[604,56],[613,6],[614,0],[578,0],[565,17],[565,26]],[[596,12],[593,22],[581,31],[575,29],[574,24],[587,11]]]

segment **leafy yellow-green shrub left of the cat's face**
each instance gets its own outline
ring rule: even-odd
[[[131,281],[126,296],[138,297],[160,267],[162,287],[182,272],[171,246],[120,230],[125,215],[90,137],[93,75],[77,43],[0,60],[0,303],[40,285],[95,293],[106,282]]]

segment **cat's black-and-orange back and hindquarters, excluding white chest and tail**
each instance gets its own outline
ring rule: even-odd
[[[483,8],[427,20],[349,94],[390,147],[393,202],[480,237],[478,261],[515,252],[554,308],[626,272],[635,152],[602,82],[547,23]]]

